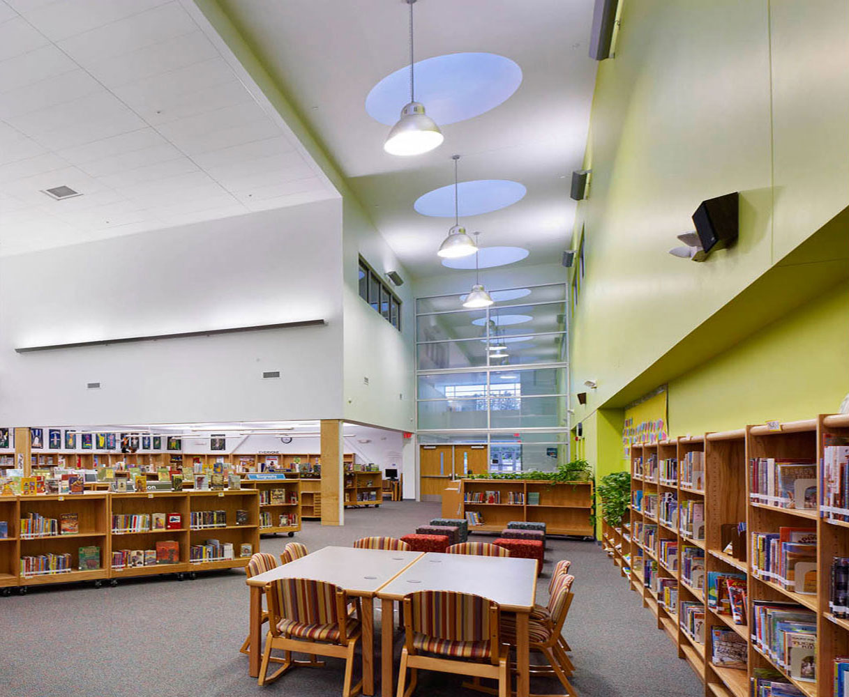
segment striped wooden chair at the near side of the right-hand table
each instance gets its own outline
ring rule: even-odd
[[[507,656],[499,643],[498,603],[480,595],[424,590],[404,597],[404,648],[397,697],[410,697],[419,668],[498,680],[510,692]],[[423,655],[430,654],[430,655]],[[410,669],[410,684],[407,669]]]

